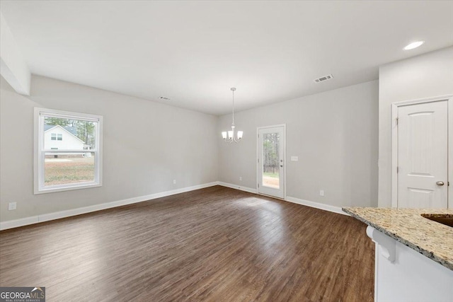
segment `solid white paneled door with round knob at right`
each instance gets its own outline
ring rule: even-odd
[[[398,107],[398,208],[447,208],[447,100]]]

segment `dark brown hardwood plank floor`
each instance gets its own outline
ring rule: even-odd
[[[372,301],[364,223],[226,187],[0,232],[0,286],[47,301]]]

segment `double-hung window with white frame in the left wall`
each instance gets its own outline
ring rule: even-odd
[[[34,170],[35,194],[100,187],[102,117],[35,108]]]

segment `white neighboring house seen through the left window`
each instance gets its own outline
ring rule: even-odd
[[[76,127],[62,127],[60,125],[45,124],[44,148],[47,150],[88,150],[90,146],[76,137]],[[77,155],[80,153],[67,153]],[[52,155],[52,153],[47,153]]]

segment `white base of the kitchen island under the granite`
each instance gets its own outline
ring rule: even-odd
[[[453,301],[452,270],[371,226],[367,235],[376,243],[374,301]]]

